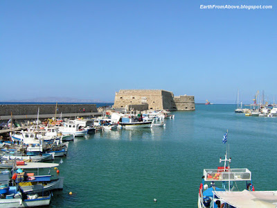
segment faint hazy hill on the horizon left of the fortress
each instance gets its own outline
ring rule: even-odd
[[[101,101],[99,99],[77,99],[77,98],[57,98],[57,97],[44,97],[44,98],[31,98],[22,100],[10,100],[6,102],[31,102],[31,103],[111,103]]]

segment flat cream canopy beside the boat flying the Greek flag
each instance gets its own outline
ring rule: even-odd
[[[277,191],[214,191],[215,195],[233,207],[276,208]]]

